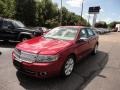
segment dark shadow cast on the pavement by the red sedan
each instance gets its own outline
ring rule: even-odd
[[[50,79],[31,78],[17,72],[20,85],[28,90],[83,90],[100,72],[108,61],[108,54],[99,51],[95,56],[88,56],[76,64],[72,75],[66,79],[55,77]],[[101,76],[101,78],[103,78]],[[107,77],[104,77],[107,78]]]

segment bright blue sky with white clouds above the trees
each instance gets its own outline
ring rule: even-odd
[[[61,0],[52,0],[60,7]],[[63,6],[69,11],[80,15],[81,3],[83,0],[62,0]],[[91,6],[100,6],[100,13],[97,15],[97,21],[120,21],[120,0],[84,0],[83,17],[88,20],[88,8]],[[92,23],[93,15],[90,16],[90,23]]]

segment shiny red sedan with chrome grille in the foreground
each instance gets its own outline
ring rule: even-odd
[[[19,43],[13,53],[14,66],[29,76],[70,76],[75,63],[96,54],[98,35],[91,28],[61,26],[47,34]]]

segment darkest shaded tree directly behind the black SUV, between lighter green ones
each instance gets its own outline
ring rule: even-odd
[[[35,0],[16,0],[16,19],[28,26],[36,25]]]

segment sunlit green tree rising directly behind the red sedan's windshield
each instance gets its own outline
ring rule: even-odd
[[[41,0],[36,2],[37,5],[37,24],[39,26],[52,27],[59,24],[57,4],[53,4],[52,0]],[[55,25],[54,25],[55,24]]]

